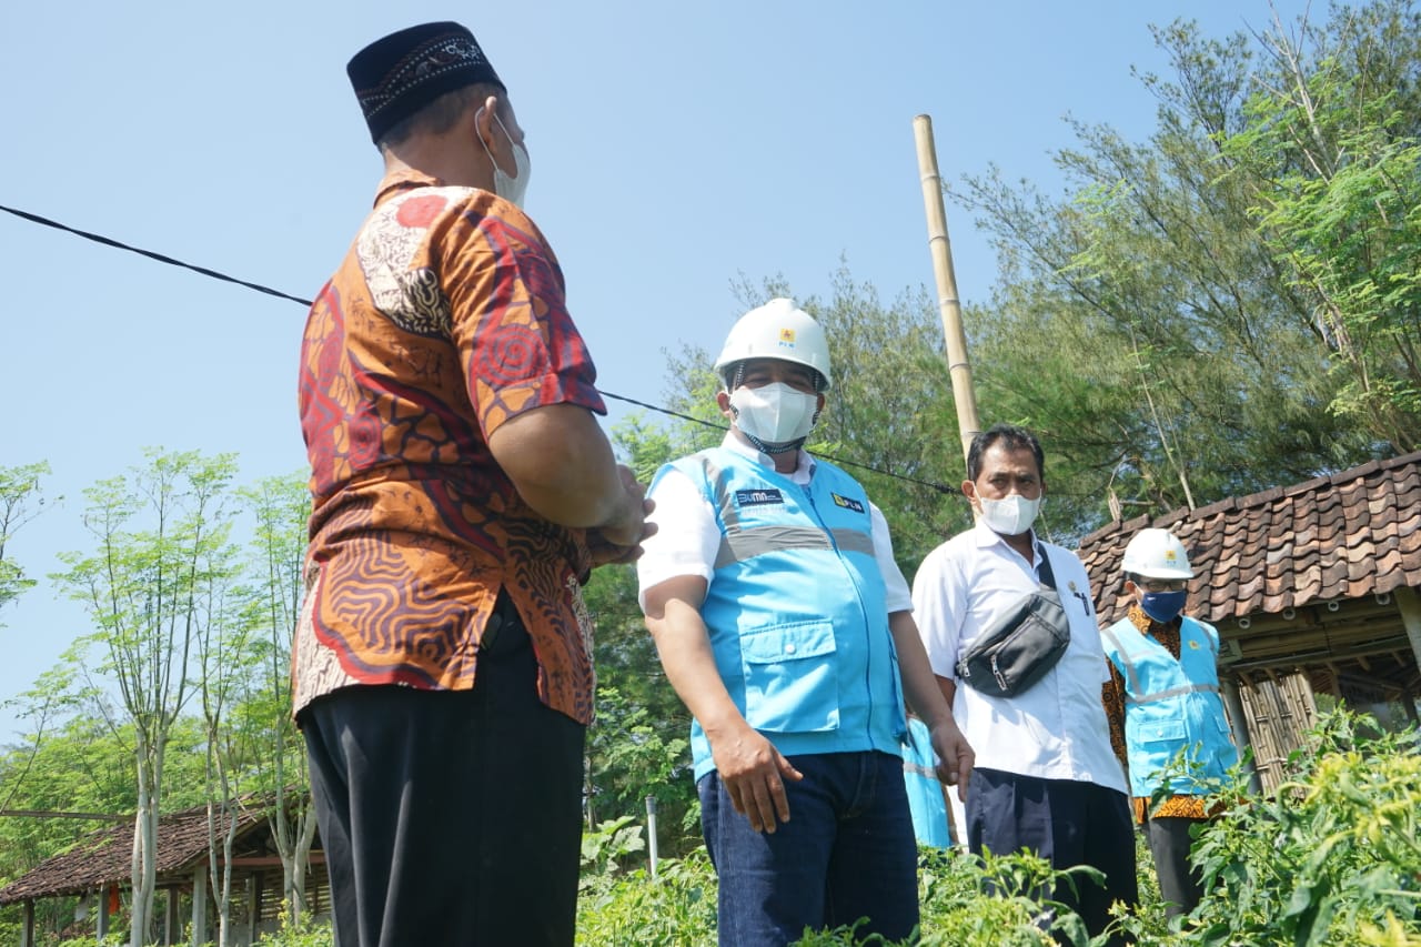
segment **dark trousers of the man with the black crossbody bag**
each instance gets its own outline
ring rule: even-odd
[[[1074,865],[1100,869],[1104,887],[1077,877],[1074,892],[1067,883],[1052,892],[1053,900],[1080,914],[1091,937],[1110,924],[1111,903],[1118,900],[1133,907],[1140,900],[1135,835],[1130,801],[1123,792],[1093,782],[973,769],[966,823],[973,855],[1027,849],[1057,869]]]

